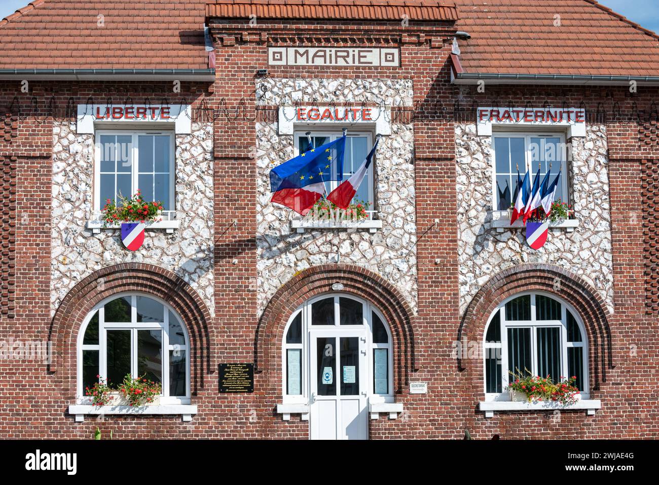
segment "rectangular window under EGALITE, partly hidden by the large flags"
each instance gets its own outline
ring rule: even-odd
[[[334,141],[337,138],[340,138],[343,134],[339,132],[335,133],[312,133],[311,143],[309,143],[308,138],[304,133],[296,133],[296,148],[298,153],[306,152],[311,148],[316,148],[317,146],[324,145]],[[366,155],[372,148],[372,137],[369,133],[358,133],[358,134],[349,134],[345,141],[345,154],[343,156],[343,179],[345,181],[350,178],[359,166],[366,160]],[[365,203],[370,203],[369,210],[374,210],[374,163],[370,164],[366,176],[364,176],[364,181],[357,189],[355,197],[353,198],[353,203],[356,201],[362,201]],[[333,172],[331,178],[337,178],[337,174]],[[341,181],[328,180],[325,181],[325,191],[328,195],[333,189],[338,187]]]

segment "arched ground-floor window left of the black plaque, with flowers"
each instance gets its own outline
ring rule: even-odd
[[[97,375],[117,386],[125,375],[162,384],[163,404],[190,402],[190,352],[181,319],[152,296],[123,294],[98,304],[78,335],[78,399]]]

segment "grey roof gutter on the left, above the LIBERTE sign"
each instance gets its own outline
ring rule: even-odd
[[[215,69],[0,69],[0,79],[215,81]]]

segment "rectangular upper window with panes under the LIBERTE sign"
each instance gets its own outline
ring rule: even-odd
[[[103,132],[97,139],[95,210],[139,189],[146,202],[174,210],[174,136],[163,132]]]

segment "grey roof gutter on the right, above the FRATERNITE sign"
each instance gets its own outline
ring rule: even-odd
[[[659,86],[659,76],[596,76],[571,74],[486,74],[455,73],[454,84],[579,84],[584,86],[629,86],[632,81],[639,85]]]

